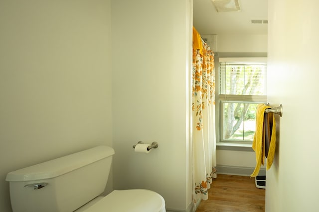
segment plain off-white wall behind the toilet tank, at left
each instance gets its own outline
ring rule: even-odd
[[[1,212],[8,172],[112,145],[110,19],[109,0],[0,1]]]

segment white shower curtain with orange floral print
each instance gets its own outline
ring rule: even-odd
[[[207,200],[216,178],[214,53],[193,28],[193,203]]]

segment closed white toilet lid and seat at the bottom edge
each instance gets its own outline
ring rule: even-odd
[[[145,189],[114,190],[84,212],[165,212],[164,199]]]

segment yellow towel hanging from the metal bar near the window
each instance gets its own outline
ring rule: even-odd
[[[271,108],[268,105],[259,104],[257,106],[257,114],[256,114],[256,131],[253,141],[253,149],[256,152],[256,167],[254,172],[250,175],[251,177],[256,177],[259,173],[260,166],[264,165],[265,160],[265,125],[264,125],[264,113],[267,108]],[[271,140],[270,147],[267,155],[267,166],[268,170],[274,159],[275,148],[276,148],[276,121],[275,116],[272,114],[272,119],[268,119],[269,125],[272,125]]]

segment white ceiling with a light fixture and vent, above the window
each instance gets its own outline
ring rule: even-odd
[[[251,20],[267,20],[268,0],[239,0],[240,11],[223,13],[211,0],[193,2],[193,25],[201,35],[267,34],[267,24]]]

